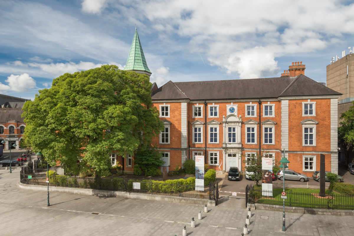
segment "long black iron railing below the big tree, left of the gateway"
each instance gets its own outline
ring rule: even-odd
[[[55,167],[49,171],[55,171]],[[47,185],[47,169],[33,169],[23,167],[20,172],[20,182],[24,184]],[[166,183],[154,180],[133,180],[122,178],[80,178],[77,176],[51,175],[48,177],[49,186],[97,189],[109,191],[140,192],[180,197],[206,198],[215,200],[218,197],[217,183],[207,186],[194,184]],[[138,187],[136,183],[139,183]]]

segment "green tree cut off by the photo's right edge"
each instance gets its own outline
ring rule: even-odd
[[[354,144],[354,105],[342,113],[341,120],[341,126],[338,127],[338,142],[346,155],[345,163],[347,165],[348,154]]]

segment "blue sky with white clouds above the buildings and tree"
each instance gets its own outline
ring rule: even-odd
[[[293,61],[326,81],[354,46],[352,1],[72,0],[0,2],[0,93],[33,99],[52,80],[116,64],[135,24],[151,81],[277,77]]]

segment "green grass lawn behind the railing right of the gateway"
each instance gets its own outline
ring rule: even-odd
[[[283,205],[283,199],[280,197],[282,188],[273,189],[273,196],[262,196],[261,186],[255,186],[256,203],[269,205]],[[333,198],[329,196],[329,190],[326,190],[326,196],[319,196],[319,189],[302,189],[302,188],[286,188],[287,199],[285,206],[292,207],[307,207],[307,208],[332,208],[332,209],[354,209],[354,197],[348,197],[342,194],[333,192]],[[252,195],[252,194],[250,194]]]

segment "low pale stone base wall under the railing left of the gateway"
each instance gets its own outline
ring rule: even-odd
[[[19,182],[18,186],[22,189],[47,191],[47,186],[42,186],[42,185],[23,184]],[[123,197],[123,198],[133,198],[133,199],[141,199],[141,200],[169,201],[169,202],[193,203],[193,204],[202,204],[202,205],[207,204],[208,206],[215,206],[215,200],[202,199],[202,198],[165,196],[165,195],[155,195],[155,194],[143,194],[138,192],[78,189],[78,188],[55,187],[55,186],[49,186],[49,191],[68,192],[72,194],[91,195],[91,196],[98,196],[98,197]]]

